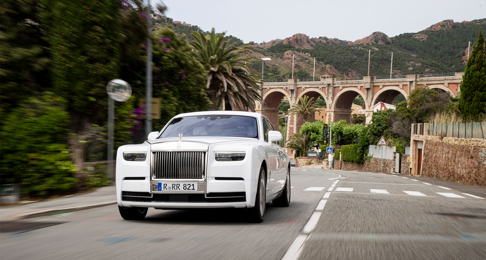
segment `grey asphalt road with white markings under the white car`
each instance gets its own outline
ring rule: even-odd
[[[293,168],[291,206],[269,203],[261,224],[234,209],[150,208],[126,221],[116,205],[3,224],[0,258],[486,259],[486,199],[402,176]]]

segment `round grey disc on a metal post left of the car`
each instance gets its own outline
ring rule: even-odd
[[[121,79],[113,79],[106,85],[108,94],[108,178],[110,183],[113,182],[113,131],[115,121],[115,103],[114,101],[127,101],[132,95],[130,84]]]

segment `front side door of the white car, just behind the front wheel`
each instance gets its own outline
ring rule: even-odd
[[[268,123],[268,121],[265,118],[262,118],[262,124],[263,124],[263,140],[265,143],[263,144],[263,150],[265,153],[265,156],[267,157],[267,197],[276,194],[278,191],[280,191],[279,188],[279,183],[278,181],[280,180],[280,177],[278,175],[278,170],[279,170],[279,156],[278,156],[278,150],[275,146],[270,145],[268,143],[268,131],[272,130],[272,125]]]

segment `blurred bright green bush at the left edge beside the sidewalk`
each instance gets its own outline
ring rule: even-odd
[[[65,140],[67,102],[46,92],[20,102],[2,118],[1,179],[21,184],[25,194],[70,191],[76,183]]]

